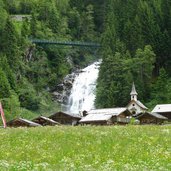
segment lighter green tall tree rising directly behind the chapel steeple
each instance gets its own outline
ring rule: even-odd
[[[132,61],[133,78],[136,80],[139,97],[148,100],[150,95],[150,85],[154,69],[156,55],[151,46],[145,46],[144,50],[138,49]]]

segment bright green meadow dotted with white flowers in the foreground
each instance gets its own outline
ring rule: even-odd
[[[171,126],[0,129],[0,170],[171,170]]]

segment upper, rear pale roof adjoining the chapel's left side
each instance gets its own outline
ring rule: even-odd
[[[105,108],[105,109],[94,109],[90,110],[87,114],[104,114],[104,115],[112,115],[112,116],[117,116],[123,112],[127,111],[127,108],[122,107],[122,108]]]

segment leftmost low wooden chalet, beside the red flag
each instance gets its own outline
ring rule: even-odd
[[[41,126],[41,125],[32,121],[29,121],[27,119],[16,118],[7,122],[7,126],[8,127],[36,127],[36,126]]]

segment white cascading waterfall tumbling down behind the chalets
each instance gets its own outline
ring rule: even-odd
[[[78,114],[80,111],[94,108],[96,81],[101,61],[84,68],[75,78],[68,101],[68,112]]]

